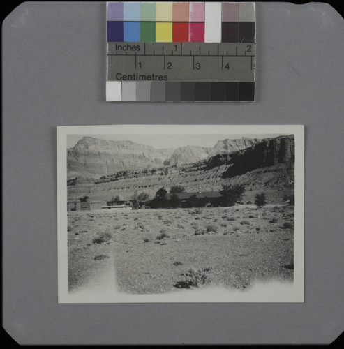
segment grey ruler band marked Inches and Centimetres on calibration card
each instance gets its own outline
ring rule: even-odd
[[[107,43],[107,81],[254,82],[254,43]]]

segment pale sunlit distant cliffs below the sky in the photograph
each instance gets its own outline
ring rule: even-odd
[[[205,160],[219,153],[250,147],[257,140],[220,140],[214,147],[186,146],[155,149],[130,141],[101,140],[84,137],[67,150],[68,178],[99,178],[123,170],[159,168]]]

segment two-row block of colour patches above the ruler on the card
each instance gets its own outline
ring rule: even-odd
[[[253,3],[107,3],[107,42],[254,43],[254,40]]]

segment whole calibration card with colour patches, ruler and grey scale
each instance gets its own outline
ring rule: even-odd
[[[255,3],[108,2],[107,101],[255,101]]]

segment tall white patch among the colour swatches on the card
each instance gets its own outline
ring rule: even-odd
[[[221,42],[222,3],[205,3],[204,43]]]

